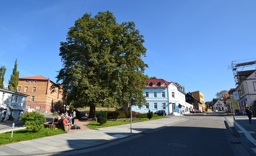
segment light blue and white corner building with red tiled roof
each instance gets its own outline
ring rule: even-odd
[[[147,113],[148,110],[156,112],[165,110],[167,115],[182,113],[186,108],[184,87],[175,82],[167,82],[164,79],[148,79],[146,88],[143,89],[146,96],[146,105],[133,106],[132,110]],[[178,105],[183,107],[179,109]]]

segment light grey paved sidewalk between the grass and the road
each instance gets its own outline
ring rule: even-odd
[[[172,116],[171,118],[132,123],[132,133],[130,124],[71,131],[72,133],[2,145],[0,146],[0,155],[54,155],[61,152],[92,148],[131,136],[136,137],[137,134],[171,126],[185,120],[185,118]],[[78,125],[78,122],[75,122],[75,124]]]

